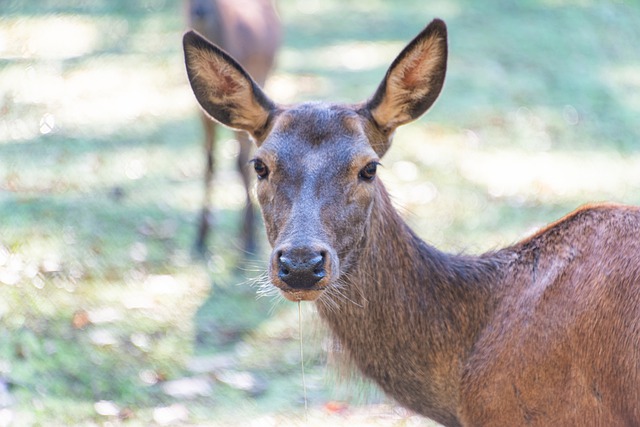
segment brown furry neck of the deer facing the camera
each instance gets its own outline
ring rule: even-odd
[[[499,261],[427,245],[378,189],[341,295],[318,311],[365,376],[401,404],[455,425],[462,366],[493,310]]]

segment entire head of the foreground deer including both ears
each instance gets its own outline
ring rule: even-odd
[[[434,20],[360,105],[273,103],[236,61],[194,32],[184,37],[189,81],[204,110],[248,131],[258,150],[257,194],[273,247],[269,277],[292,301],[336,284],[366,240],[381,183],[376,167],[396,127],[437,98],[446,27]]]

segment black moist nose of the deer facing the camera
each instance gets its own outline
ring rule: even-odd
[[[294,289],[309,289],[325,275],[325,253],[290,251],[278,256],[278,277]]]

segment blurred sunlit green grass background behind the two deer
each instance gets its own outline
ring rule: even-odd
[[[280,102],[368,97],[433,17],[445,88],[381,172],[428,242],[479,253],[586,202],[640,204],[636,0],[278,0]],[[223,134],[192,256],[202,130],[180,2],[0,0],[0,426],[431,425],[336,381],[311,305],[256,298]],[[309,410],[300,368],[302,328]]]

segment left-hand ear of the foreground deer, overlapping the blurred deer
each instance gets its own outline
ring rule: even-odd
[[[260,140],[276,109],[273,101],[229,54],[195,31],[186,32],[182,44],[189,83],[202,108],[223,125]]]

